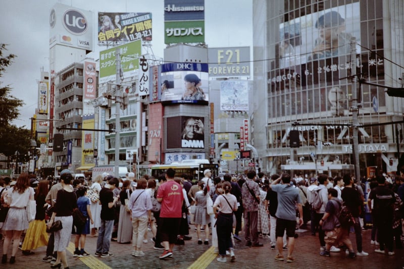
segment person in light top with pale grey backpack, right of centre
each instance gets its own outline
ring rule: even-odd
[[[320,220],[323,218],[325,213],[325,208],[328,202],[328,190],[327,185],[329,183],[327,175],[320,174],[318,176],[319,187],[312,192],[313,203],[312,207],[316,210],[315,224],[319,224],[319,240],[320,240],[320,251],[325,250],[325,233],[320,225]],[[335,251],[335,250],[334,250]],[[338,250],[339,251],[339,250]]]

